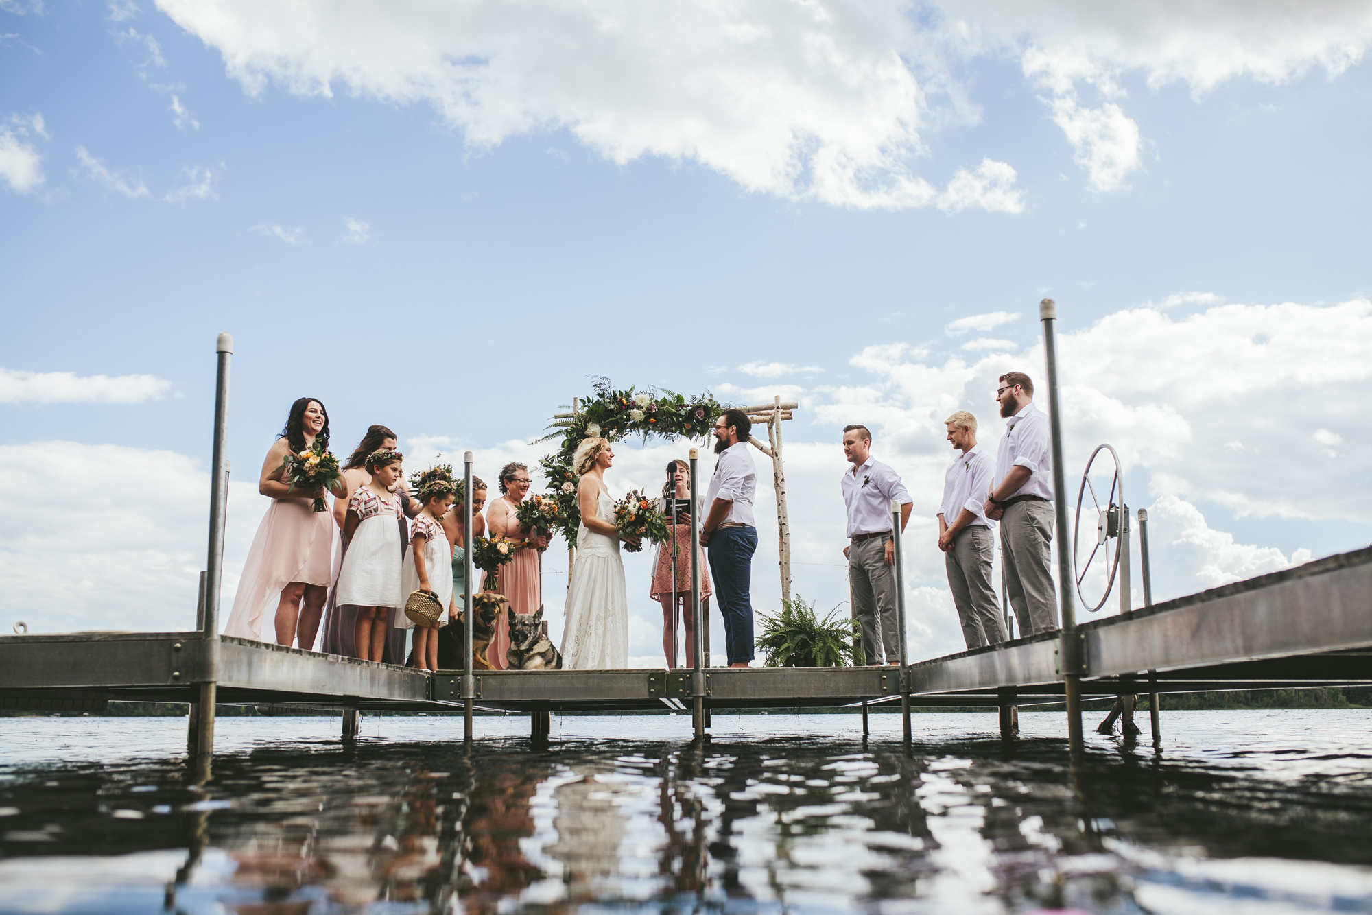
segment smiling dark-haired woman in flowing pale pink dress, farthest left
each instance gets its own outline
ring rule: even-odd
[[[300,398],[291,405],[285,429],[266,453],[258,492],[272,498],[272,505],[258,525],[248,549],[233,610],[224,627],[225,635],[262,639],[262,617],[273,612],[273,635],[277,645],[313,650],[320,630],[324,601],[333,582],[333,519],[316,512],[313,502],[322,490],[300,491],[284,482],[283,461],[287,451],[303,451],[314,439],[329,435],[329,414],[314,398]],[[339,484],[335,497],[346,494]]]

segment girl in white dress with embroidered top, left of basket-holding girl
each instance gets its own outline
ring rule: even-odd
[[[339,573],[338,604],[357,609],[354,643],[364,661],[380,661],[394,608],[405,606],[401,590],[401,540],[395,536],[401,517],[401,499],[395,486],[401,480],[403,454],[380,449],[366,458],[372,482],[358,488],[347,503],[343,536],[347,554]]]

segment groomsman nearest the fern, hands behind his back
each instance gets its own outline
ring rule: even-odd
[[[866,425],[844,427],[844,457],[853,465],[840,488],[848,509],[848,584],[853,617],[862,627],[862,653],[868,664],[900,664],[900,615],[896,609],[896,543],[890,503],[900,502],[900,530],[914,502],[900,476],[871,457]]]

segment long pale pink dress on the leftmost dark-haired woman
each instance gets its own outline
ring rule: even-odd
[[[279,482],[285,482],[285,468]],[[328,587],[333,582],[333,538],[338,525],[332,512],[316,512],[314,499],[272,499],[243,564],[233,609],[224,626],[225,635],[276,641],[276,608],[281,589],[291,582]],[[272,613],[268,639],[262,638],[262,617]],[[311,650],[313,645],[300,647]]]

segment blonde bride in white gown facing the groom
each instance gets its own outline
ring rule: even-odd
[[[628,667],[628,598],[615,501],[605,491],[605,471],[615,462],[609,442],[590,438],[576,447],[572,466],[580,473],[576,505],[576,564],[567,586],[563,669],[605,671]]]

